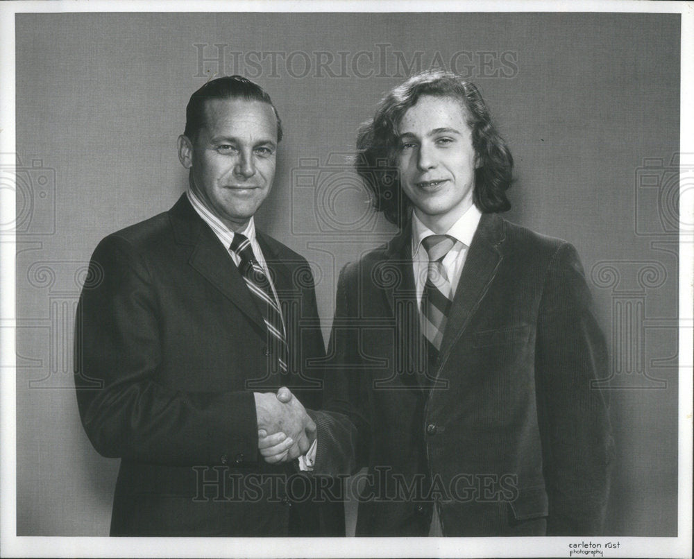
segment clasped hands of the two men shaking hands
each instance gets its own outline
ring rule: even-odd
[[[306,454],[316,440],[316,424],[306,409],[282,386],[277,394],[253,393],[258,424],[258,449],[269,464],[289,462]]]

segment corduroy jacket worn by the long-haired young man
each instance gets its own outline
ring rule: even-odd
[[[314,413],[316,472],[369,468],[357,535],[427,535],[433,506],[444,535],[600,533],[608,359],[574,248],[484,214],[430,367],[421,340],[407,229],[342,270]]]

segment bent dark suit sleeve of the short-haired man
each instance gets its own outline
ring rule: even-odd
[[[122,237],[101,241],[75,329],[77,402],[92,445],[103,456],[164,465],[257,461],[253,393],[158,382],[159,308],[146,259]]]

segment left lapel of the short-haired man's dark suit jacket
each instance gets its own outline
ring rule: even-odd
[[[248,293],[239,269],[214,232],[195,212],[185,194],[171,208],[169,218],[176,242],[193,247],[188,263],[264,332],[265,322]]]

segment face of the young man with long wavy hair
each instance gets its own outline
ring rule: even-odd
[[[398,132],[400,187],[422,223],[445,233],[473,205],[477,157],[466,111],[455,98],[422,96]]]

